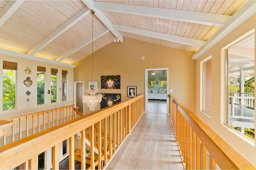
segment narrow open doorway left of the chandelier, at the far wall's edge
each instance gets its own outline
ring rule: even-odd
[[[78,111],[84,115],[84,103],[82,96],[84,95],[84,82],[74,82],[74,105]]]

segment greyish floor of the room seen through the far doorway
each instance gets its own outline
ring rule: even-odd
[[[167,104],[166,100],[148,100],[148,113],[158,113],[158,114],[166,114],[167,113]]]

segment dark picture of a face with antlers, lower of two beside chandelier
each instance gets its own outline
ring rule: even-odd
[[[100,109],[103,109],[108,106],[112,106],[113,104],[121,102],[121,94],[102,94],[102,101],[100,102]]]

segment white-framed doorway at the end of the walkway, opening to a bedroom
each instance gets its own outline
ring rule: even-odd
[[[145,111],[168,114],[168,68],[145,69]]]

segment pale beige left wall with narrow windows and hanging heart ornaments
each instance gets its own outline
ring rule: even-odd
[[[18,63],[18,70],[16,72],[17,80],[16,80],[16,99],[17,99],[17,109],[3,111],[2,109],[2,97],[0,97],[0,119],[10,119],[12,117],[17,117],[21,115],[27,115],[30,113],[36,113],[38,111],[54,109],[57,107],[68,106],[73,104],[73,75],[74,75],[74,68],[60,66],[55,64],[43,63],[39,61],[23,59],[19,57],[12,57],[9,55],[0,55],[0,68],[3,68],[3,61],[11,61]],[[45,104],[37,106],[37,66],[44,66],[46,67],[45,72],[45,90],[50,90],[50,75],[51,75],[51,68],[58,69],[57,73],[57,103],[51,104],[50,94],[46,94]],[[24,70],[30,67],[32,70],[31,74],[24,73]],[[62,70],[67,70],[67,101],[62,102]],[[2,71],[1,71],[2,72]],[[33,81],[33,84],[29,87],[25,86],[23,81],[26,80],[26,77],[30,77]],[[2,73],[0,74],[0,96],[2,94]],[[26,91],[30,91],[31,94],[29,96],[26,95]],[[27,99],[29,101],[27,102]],[[29,104],[29,107],[27,107]]]

